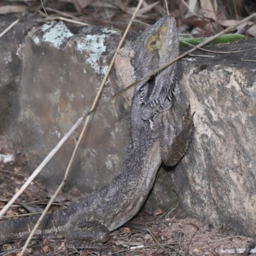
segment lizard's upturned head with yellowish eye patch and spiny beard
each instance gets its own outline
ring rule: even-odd
[[[141,79],[179,55],[179,38],[175,19],[164,16],[141,34],[134,56],[134,74]],[[164,68],[154,77],[136,87],[140,93],[143,119],[148,120],[163,109],[166,101],[172,102],[176,80],[176,63]]]

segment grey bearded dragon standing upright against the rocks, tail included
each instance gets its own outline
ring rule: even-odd
[[[136,79],[179,55],[175,20],[165,16],[141,34],[134,57]],[[35,239],[65,238],[66,246],[99,248],[109,232],[124,225],[140,210],[152,189],[162,161],[176,164],[193,138],[193,115],[187,109],[182,129],[175,134],[170,108],[176,64],[164,68],[134,91],[131,107],[132,139],[120,174],[106,187],[66,209],[49,213],[36,230]],[[1,221],[0,244],[26,239],[38,216]]]

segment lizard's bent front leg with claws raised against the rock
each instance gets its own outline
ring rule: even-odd
[[[193,113],[194,115],[194,113]],[[193,139],[194,122],[190,107],[182,116],[182,129],[179,134],[175,134],[175,122],[172,109],[161,113],[160,121],[160,147],[161,157],[164,164],[173,166],[186,154],[188,146]]]

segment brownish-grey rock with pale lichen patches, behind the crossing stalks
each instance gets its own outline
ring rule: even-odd
[[[120,40],[115,31],[95,26],[44,24],[25,38],[22,49],[22,90],[19,132],[32,172],[76,120],[89,111]],[[115,72],[104,87],[100,102],[122,90]],[[129,141],[129,110],[119,97],[93,115],[67,180],[90,193],[108,184],[122,166]],[[63,179],[80,129],[39,177],[47,184]],[[86,170],[86,173],[84,173]]]

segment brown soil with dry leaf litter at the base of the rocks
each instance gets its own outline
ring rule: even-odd
[[[22,150],[13,148],[7,136],[0,136],[0,154],[8,155],[17,151]],[[28,179],[24,172],[26,164],[26,157],[22,152],[14,162],[0,163],[0,209]],[[47,188],[36,181],[31,182],[28,189],[9,209],[7,216],[42,212],[55,189]],[[63,209],[82,197],[77,189],[68,194],[60,193],[51,211]],[[212,227],[195,220],[177,206],[167,213],[140,212],[131,223],[111,232],[111,239],[102,246],[101,252],[78,252],[66,248],[63,239],[41,239],[29,244],[27,255],[239,255],[237,250],[247,248],[252,241],[249,237],[227,234],[223,227]],[[0,255],[19,255],[24,243],[25,241],[15,241],[3,244],[0,247]]]

